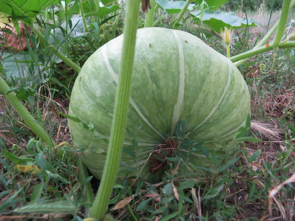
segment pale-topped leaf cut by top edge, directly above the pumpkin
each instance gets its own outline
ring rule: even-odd
[[[156,3],[163,8],[165,14],[177,14],[185,5],[185,1],[156,0]],[[187,11],[193,10],[195,4],[189,4]]]

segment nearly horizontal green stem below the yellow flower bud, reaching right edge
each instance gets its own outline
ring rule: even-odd
[[[271,51],[274,48],[295,48],[295,41],[286,42],[283,45],[279,45],[278,47],[275,47],[273,45],[273,43],[270,43],[267,47],[262,46],[262,47],[259,47],[259,48],[252,49],[252,50],[250,50],[248,52],[244,52],[242,54],[233,56],[233,57],[230,58],[230,60],[232,62],[236,62],[236,61],[244,59],[244,58],[249,58],[249,57],[252,57],[254,55],[259,55],[259,54]]]

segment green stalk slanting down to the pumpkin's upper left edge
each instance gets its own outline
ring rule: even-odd
[[[55,46],[53,46],[51,43],[49,42],[45,42],[45,38],[43,36],[43,34],[37,29],[35,28],[32,24],[28,24],[29,28],[31,28],[31,30],[36,33],[38,35],[38,38],[40,39],[40,41],[42,42],[43,46],[47,46],[50,51],[52,51],[53,53],[55,53],[56,55],[58,55],[58,57],[64,61],[64,63],[66,63],[67,65],[69,65],[71,68],[74,69],[74,71],[80,72],[81,68],[75,64],[71,59],[67,58],[65,55],[63,55],[61,52],[59,52],[59,50],[57,50],[57,48]]]

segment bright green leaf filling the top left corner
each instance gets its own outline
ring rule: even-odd
[[[22,20],[29,22],[38,11],[57,0],[0,0],[0,12],[14,16],[25,16]],[[13,13],[12,13],[13,10]],[[28,18],[30,17],[30,18]]]

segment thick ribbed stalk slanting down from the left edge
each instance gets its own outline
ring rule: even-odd
[[[0,91],[3,92],[4,97],[9,101],[13,108],[18,112],[18,114],[23,118],[29,129],[43,142],[45,142],[51,149],[53,149],[57,144],[50,136],[45,132],[45,130],[40,126],[39,123],[34,119],[34,117],[29,113],[26,107],[21,103],[21,101],[16,97],[14,93],[6,94],[9,90],[9,86],[4,81],[2,76],[0,76]],[[57,149],[58,156],[62,157],[62,150]]]

